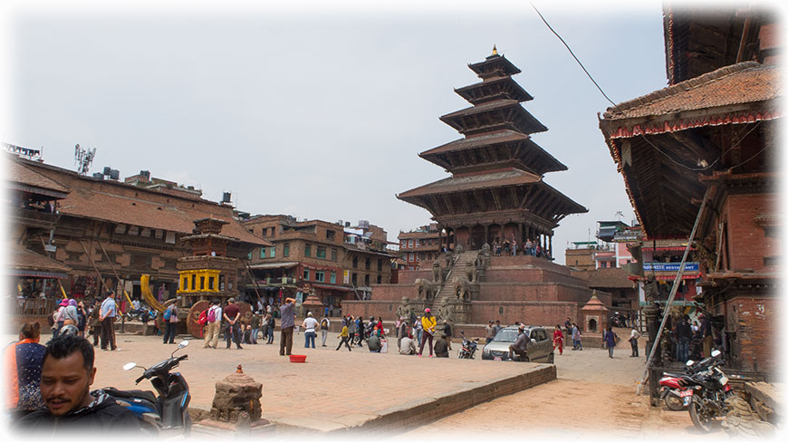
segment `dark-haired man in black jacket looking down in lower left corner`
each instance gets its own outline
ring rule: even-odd
[[[65,335],[46,346],[41,370],[41,408],[14,426],[18,431],[51,432],[121,430],[140,432],[139,419],[115,399],[90,387],[96,376],[91,343],[79,336]]]

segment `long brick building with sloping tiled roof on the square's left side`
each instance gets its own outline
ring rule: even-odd
[[[47,257],[60,264],[50,262],[39,274],[14,280],[23,289],[20,305],[41,299],[53,303],[63,292],[91,299],[101,297],[106,288],[138,297],[143,274],[149,274],[154,294],[174,297],[178,258],[192,253],[180,238],[192,234],[199,218],[212,216],[227,223],[223,232],[228,256],[245,257],[252,246],[270,244],[241,226],[232,207],[202,199],[198,191],[161,183],[138,187],[101,174],[86,177],[41,161],[6,157],[10,233],[14,247],[23,252],[18,256],[34,253],[41,256],[35,259],[39,264]],[[238,266],[231,273],[228,280],[238,283],[228,290],[240,293],[245,270]],[[38,310],[46,308],[49,305]]]

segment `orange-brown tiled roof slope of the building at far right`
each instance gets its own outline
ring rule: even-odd
[[[774,64],[741,62],[608,108],[603,121],[629,120],[770,101],[783,95]]]

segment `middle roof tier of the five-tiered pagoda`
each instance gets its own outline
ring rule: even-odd
[[[517,130],[529,135],[547,130],[516,100],[485,102],[461,111],[447,113],[440,117],[440,120],[468,137],[495,130]]]

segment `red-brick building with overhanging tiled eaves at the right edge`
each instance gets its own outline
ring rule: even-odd
[[[696,299],[727,363],[771,376],[782,318],[778,24],[736,5],[663,12],[668,87],[608,109],[600,128],[647,240],[689,238],[697,221]]]

